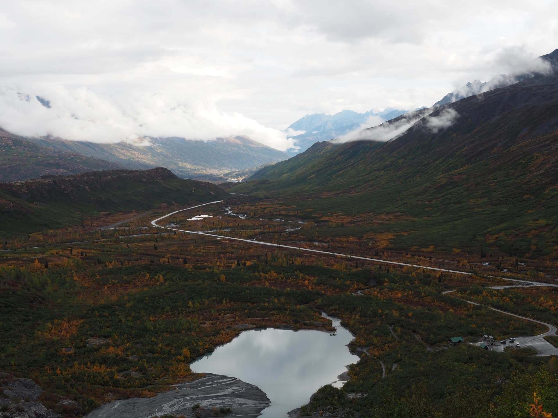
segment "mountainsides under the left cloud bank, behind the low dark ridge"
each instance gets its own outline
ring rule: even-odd
[[[0,181],[68,175],[99,169],[167,167],[177,176],[225,181],[289,157],[248,137],[186,140],[149,138],[150,145],[102,144],[59,138],[22,138],[0,130]]]

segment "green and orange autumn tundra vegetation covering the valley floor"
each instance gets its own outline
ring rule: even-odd
[[[170,209],[160,210],[165,211]],[[195,215],[187,211],[165,222],[302,241],[301,247],[315,247],[302,234],[327,229],[308,222],[286,232],[288,221],[239,220],[219,206],[203,213],[213,217],[187,221]],[[85,414],[115,398],[153,396],[195,378],[189,362],[238,335],[235,325],[328,329],[322,311],[340,317],[355,335],[349,349],[360,360],[350,366],[351,380],[343,388],[321,388],[302,415],[347,408],[363,417],[507,417],[510,411],[528,416],[533,392],[544,411],[558,407],[556,359],[517,350],[490,352],[467,343],[449,347],[455,336],[477,341],[483,334],[509,338],[546,330],[460,298],[556,323],[555,292],[482,287],[503,282],[485,275],[489,267],[480,264],[480,250],[437,254],[454,268],[477,272],[440,275],[175,233],[149,226],[156,216],[157,211],[113,230],[95,227],[126,216],[85,218],[83,226],[4,242],[0,370],[39,383],[45,390],[40,401],[50,409],[70,414],[59,404],[64,397],[78,402]],[[351,242],[337,245],[357,251]],[[435,265],[437,258],[434,252],[377,248],[378,257],[408,264]],[[374,249],[360,251],[376,255]],[[508,257],[499,260],[515,266]],[[509,274],[526,276],[520,273]],[[442,294],[449,289],[456,293]],[[353,294],[358,290],[362,296]],[[324,327],[317,327],[320,322]],[[387,366],[385,378],[380,361]],[[348,397],[352,392],[367,396]]]

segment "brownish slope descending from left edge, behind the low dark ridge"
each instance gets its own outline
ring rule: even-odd
[[[41,147],[3,130],[0,130],[0,167],[3,182],[122,168],[102,159]]]

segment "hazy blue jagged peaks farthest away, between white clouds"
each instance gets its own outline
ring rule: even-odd
[[[296,145],[300,149],[289,151],[289,153],[296,155],[318,141],[329,140],[346,134],[364,124],[371,116],[378,116],[379,120],[386,121],[406,112],[407,110],[387,108],[382,111],[370,110],[365,113],[341,110],[334,115],[326,115],[325,113],[306,115],[287,128],[287,130],[305,131],[304,134],[292,137],[296,139]]]

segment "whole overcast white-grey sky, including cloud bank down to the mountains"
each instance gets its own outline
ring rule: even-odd
[[[430,106],[556,47],[554,1],[4,1],[0,127],[285,150],[305,114]]]

